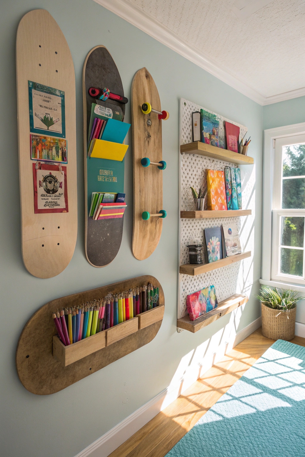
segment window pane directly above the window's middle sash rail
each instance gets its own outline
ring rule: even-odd
[[[305,178],[283,179],[282,208],[305,209]]]

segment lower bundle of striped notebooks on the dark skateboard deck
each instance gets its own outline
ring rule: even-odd
[[[123,218],[126,207],[123,193],[92,192],[89,217],[94,221]]]

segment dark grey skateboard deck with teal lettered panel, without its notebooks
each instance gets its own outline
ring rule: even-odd
[[[118,254],[123,235],[123,218],[92,220],[89,217],[92,192],[124,192],[124,159],[117,160],[87,158],[87,139],[91,116],[91,105],[110,108],[124,119],[125,105],[115,100],[96,100],[88,93],[90,87],[107,87],[111,92],[124,95],[123,84],[110,53],[104,46],[96,46],[87,55],[83,69],[84,104],[84,169],[85,169],[85,250],[92,266],[108,265]],[[106,170],[106,171],[105,171]],[[116,175],[117,182],[99,181],[103,172]]]

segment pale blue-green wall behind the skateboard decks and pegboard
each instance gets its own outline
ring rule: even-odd
[[[15,43],[18,22],[36,8],[47,9],[63,31],[74,60],[76,79],[78,238],[69,266],[48,280],[37,279],[26,271],[20,246]],[[176,332],[180,97],[240,122],[251,132],[251,155],[256,163],[251,275],[257,289],[261,266],[263,111],[262,106],[92,0],[2,0],[0,30],[0,453],[5,457],[73,457],[166,388],[182,357],[221,330],[230,319],[225,316],[195,335]],[[168,217],[163,223],[161,241],[147,260],[140,262],[133,257],[130,146],[125,161],[129,209],[124,217],[122,246],[112,264],[102,269],[93,268],[86,260],[83,216],[82,68],[87,53],[97,44],[105,45],[112,54],[128,98],[135,72],[146,66],[158,87],[163,109],[170,112],[162,127],[163,157],[167,162],[164,208]],[[126,121],[130,119],[129,103]],[[128,142],[131,145],[131,134]],[[154,275],[161,281],[166,301],[161,329],[149,345],[50,396],[33,395],[21,385],[15,368],[16,344],[27,319],[37,308],[54,298],[142,274]],[[259,314],[252,293],[238,330]]]

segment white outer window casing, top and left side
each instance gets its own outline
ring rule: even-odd
[[[264,130],[262,176],[262,280],[271,280],[273,140],[305,133],[305,122]]]

